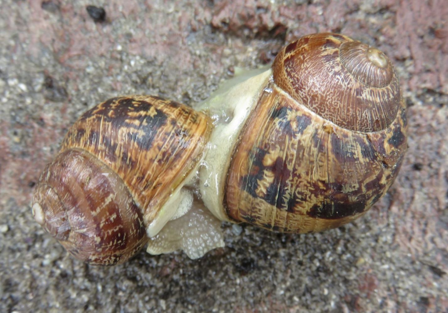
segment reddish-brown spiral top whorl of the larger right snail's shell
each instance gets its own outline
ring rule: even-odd
[[[400,107],[398,78],[378,49],[339,34],[313,34],[284,47],[273,63],[281,89],[351,131],[387,128]]]

